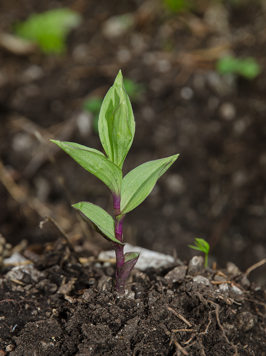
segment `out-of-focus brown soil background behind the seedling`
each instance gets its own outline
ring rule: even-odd
[[[210,263],[232,261],[243,271],[266,257],[265,1],[190,3],[173,12],[160,0],[0,1],[0,233],[12,245],[26,239],[28,258],[58,237],[50,223],[39,229],[45,215],[81,257],[110,246],[70,206],[87,200],[112,213],[108,188],[49,139],[102,150],[84,103],[103,97],[119,69],[142,83],[124,174],[180,153],[126,215],[125,241],[188,260],[195,250],[187,245],[203,238]],[[59,7],[82,16],[65,54],[22,53],[3,40],[17,21]],[[227,53],[256,58],[261,73],[219,74],[216,62]],[[266,284],[265,271],[250,279]]]

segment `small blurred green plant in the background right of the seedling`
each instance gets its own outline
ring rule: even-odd
[[[253,57],[235,58],[225,56],[218,59],[216,69],[220,74],[235,73],[242,75],[246,79],[254,79],[260,74],[261,68]]]

